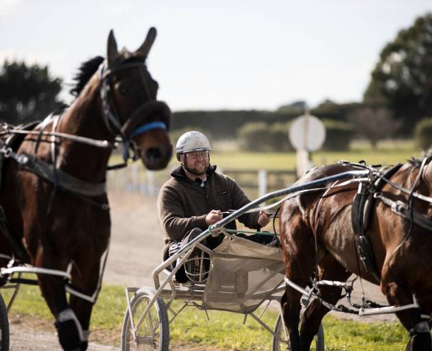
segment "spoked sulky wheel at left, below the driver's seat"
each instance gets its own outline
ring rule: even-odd
[[[145,308],[149,306],[156,290],[152,287],[143,287],[136,291],[130,302],[134,326],[139,322]],[[132,328],[129,310],[126,309],[121,328],[121,350],[158,350],[167,351],[169,348],[169,321],[167,307],[162,298],[156,298],[143,319],[141,325]]]

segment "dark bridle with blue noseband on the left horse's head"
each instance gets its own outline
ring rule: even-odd
[[[142,62],[130,62],[126,64],[121,64],[120,62],[116,66],[106,69],[105,63],[106,62],[102,62],[99,66],[102,119],[104,120],[106,128],[113,136],[121,136],[124,148],[123,160],[126,162],[129,158],[131,158],[129,154],[130,145],[133,146],[132,149],[134,151],[132,159],[136,160],[138,158],[138,155],[136,154],[138,148],[136,147],[134,141],[132,141],[132,138],[149,130],[167,130],[169,128],[169,116],[171,112],[169,111],[167,104],[152,98],[147,81],[145,80],[145,77],[143,77],[142,82],[149,100],[136,108],[130,117],[126,119],[125,123],[122,124],[119,114],[116,112],[114,100],[112,99],[112,95],[110,93],[110,77],[112,73],[121,71],[123,69],[137,67],[147,71],[147,67]],[[155,112],[160,114],[161,120],[144,123],[145,120]]]

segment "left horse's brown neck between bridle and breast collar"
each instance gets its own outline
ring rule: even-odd
[[[71,108],[63,114],[57,131],[114,143],[115,136],[108,132],[101,117],[99,79],[96,74],[86,84]],[[111,151],[75,141],[63,141],[58,149],[56,165],[78,178],[103,182]]]

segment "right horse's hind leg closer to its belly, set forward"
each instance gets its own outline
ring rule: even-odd
[[[320,265],[320,280],[336,280],[345,282],[351,275],[344,267],[342,267],[330,254],[326,254],[319,263]],[[341,296],[341,288],[339,287],[320,287],[322,299],[330,304],[336,304]],[[313,338],[320,328],[320,324],[324,315],[330,311],[319,300],[313,300],[303,313],[302,324],[300,328],[300,341],[304,345],[304,350],[309,350]]]

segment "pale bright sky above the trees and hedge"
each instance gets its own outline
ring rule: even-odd
[[[47,64],[70,99],[111,28],[134,50],[154,26],[149,71],[173,110],[360,101],[385,43],[428,11],[431,0],[0,0],[0,62]]]

